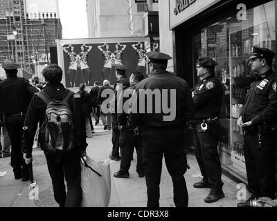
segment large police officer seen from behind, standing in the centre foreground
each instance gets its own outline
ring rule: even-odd
[[[148,189],[148,207],[159,207],[163,155],[172,177],[175,206],[186,207],[188,206],[188,191],[184,174],[188,166],[184,147],[184,129],[186,121],[193,117],[193,98],[186,81],[166,71],[168,60],[172,57],[161,52],[149,52],[147,56],[150,59],[148,62],[151,75],[136,87],[137,99],[134,98],[136,96],[132,97],[136,102],[132,102],[133,110],[130,119],[133,125],[140,125],[143,135],[143,162]],[[145,93],[150,91],[161,93],[161,99],[159,95],[145,96]],[[141,100],[145,104],[141,104]],[[169,102],[169,112],[156,109],[157,106],[168,107]],[[142,111],[141,105],[144,105],[145,111],[148,110],[148,112],[136,114],[135,111]]]

